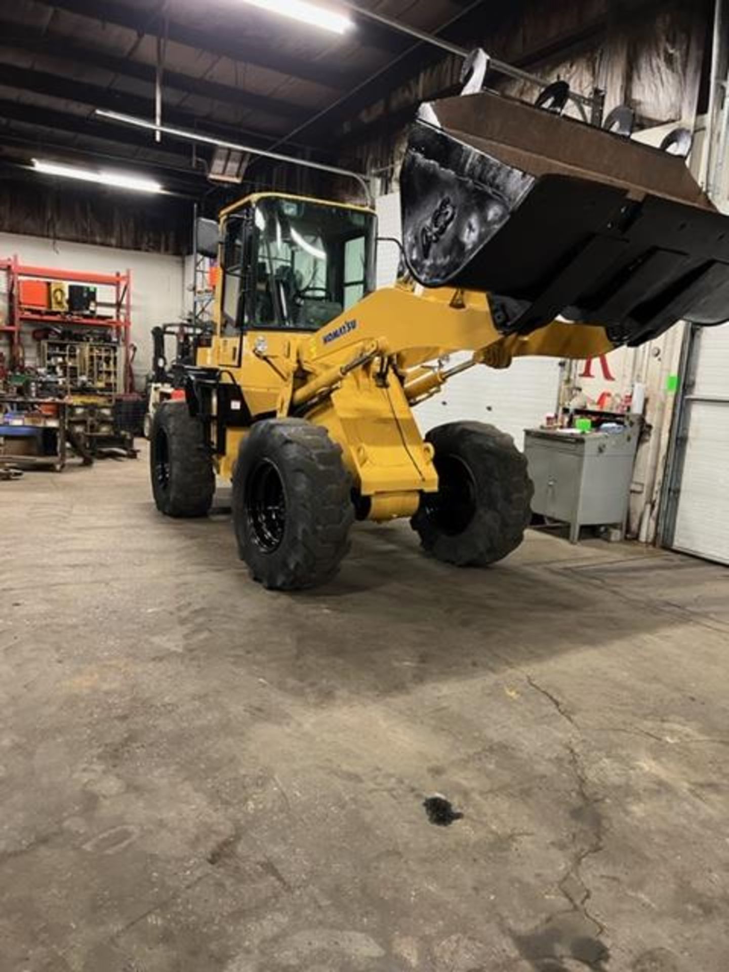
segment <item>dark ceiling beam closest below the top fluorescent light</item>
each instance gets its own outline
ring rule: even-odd
[[[129,7],[119,3],[118,0],[39,0],[39,2],[91,20],[126,27],[139,36],[144,34],[159,36],[163,30],[159,6],[149,11],[140,7]],[[269,71],[291,75],[334,90],[346,89],[357,78],[356,73],[337,67],[328,59],[316,61],[311,58],[292,57],[277,52],[275,44],[263,45],[252,39],[238,38],[234,26],[231,23],[229,31],[212,32],[170,19],[167,37],[170,41],[184,44],[195,51],[221,54],[233,60],[254,64]]]

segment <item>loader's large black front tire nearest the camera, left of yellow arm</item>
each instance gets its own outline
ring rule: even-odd
[[[354,521],[352,483],[326,429],[302,419],[256,423],[233,471],[241,560],[270,590],[316,587],[337,572]]]

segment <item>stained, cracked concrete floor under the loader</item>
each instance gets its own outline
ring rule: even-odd
[[[0,502],[2,972],[729,967],[729,572],[364,526],[286,596],[144,460]]]

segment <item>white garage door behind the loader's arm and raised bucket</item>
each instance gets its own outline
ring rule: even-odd
[[[377,200],[380,236],[400,239],[399,192]],[[377,286],[395,283],[399,250],[382,243],[377,253]],[[469,355],[452,355],[449,364],[465,361]],[[422,432],[444,422],[465,419],[490,422],[513,435],[519,448],[524,447],[524,430],[538,426],[544,416],[557,407],[559,365],[554,358],[517,359],[509,368],[495,371],[477,366],[456,375],[440,395],[418,405],[415,418]]]

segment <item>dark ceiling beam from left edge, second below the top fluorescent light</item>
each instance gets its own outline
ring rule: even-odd
[[[42,28],[17,23],[11,20],[0,20],[0,38],[2,45],[9,48],[19,48],[40,55],[62,57],[64,60],[90,65],[103,71],[110,71],[125,78],[134,78],[150,86],[156,82],[156,66],[142,61],[131,60],[108,54],[92,47],[85,47],[64,34],[44,31]],[[165,69],[162,79],[163,87],[174,88],[186,94],[196,94],[204,98],[211,98],[223,104],[237,105],[244,109],[254,109],[275,115],[281,119],[295,121],[306,114],[307,109],[269,95],[257,94],[230,85],[221,85],[206,78],[193,78],[191,75],[179,71]]]

